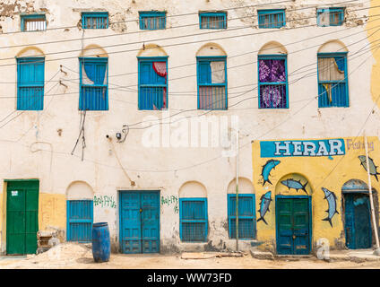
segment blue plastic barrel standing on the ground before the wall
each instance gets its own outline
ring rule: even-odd
[[[92,225],[92,257],[95,262],[107,262],[111,254],[111,240],[107,222]]]

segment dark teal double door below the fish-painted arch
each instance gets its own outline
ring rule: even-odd
[[[311,243],[310,196],[276,196],[276,245],[280,255],[306,255]]]

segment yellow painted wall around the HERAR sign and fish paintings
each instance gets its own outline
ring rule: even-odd
[[[262,167],[267,161],[271,160],[271,158],[261,158],[260,142],[254,142],[252,144],[256,211],[260,209],[261,196],[269,190],[272,191],[272,202],[269,207],[270,212],[266,213],[264,216],[268,225],[263,221],[257,222],[257,239],[259,241],[264,241],[261,248],[275,248],[275,195],[306,195],[302,190],[298,190],[297,192],[294,189],[289,190],[288,187],[283,186],[281,180],[286,178],[301,180],[302,184],[306,182],[306,179],[308,181],[306,188],[307,193],[312,196],[312,245],[314,246],[316,241],[321,238],[328,239],[331,248],[339,248],[340,245],[344,245],[345,239],[342,222],[341,187],[344,183],[353,178],[361,179],[367,183],[367,171],[360,165],[358,159],[358,155],[366,154],[363,137],[358,137],[356,141],[354,137],[343,139],[346,150],[344,156],[332,156],[331,159],[327,156],[273,157],[273,160],[281,161],[281,163],[271,171],[269,179],[271,180],[272,185],[270,183],[265,183],[264,186],[263,178],[261,176]],[[351,141],[350,143],[355,143],[355,148],[351,144],[349,147],[347,144],[348,141]],[[373,146],[373,151],[371,151],[372,148],[368,149],[369,157],[375,161],[375,164],[380,165],[380,142],[378,138],[368,136],[367,141],[369,145],[372,144]],[[378,170],[380,170],[380,168]],[[374,176],[371,176],[371,181],[372,187],[380,192],[380,183]],[[326,210],[328,209],[328,203],[327,200],[324,199],[324,192],[321,187],[329,189],[337,196],[336,205],[337,211],[340,214],[333,215],[332,226],[329,222],[322,221],[327,217]]]

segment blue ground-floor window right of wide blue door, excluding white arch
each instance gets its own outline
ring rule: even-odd
[[[207,198],[179,198],[179,234],[184,242],[207,240]]]

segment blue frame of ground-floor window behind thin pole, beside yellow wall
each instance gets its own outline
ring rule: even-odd
[[[227,195],[227,210],[228,210],[228,220],[229,220],[229,239],[236,239],[236,229],[232,229],[232,221],[235,220],[236,222],[236,219],[237,219],[237,216],[236,216],[236,198],[237,198],[237,195],[236,194],[228,194]],[[239,236],[238,236],[238,239],[241,239],[241,240],[252,240],[252,239],[255,239],[256,238],[256,213],[255,213],[255,194],[239,194],[238,195],[238,200],[239,200],[239,203],[240,203],[240,199],[243,199],[243,198],[251,198],[252,200],[252,210],[250,211],[250,213],[252,215],[244,215],[243,213],[246,211],[242,211],[242,205],[239,204],[238,205],[238,209],[239,209],[239,213],[238,213],[238,222],[239,222]],[[233,202],[235,200],[235,202]],[[241,232],[240,232],[240,221],[252,221],[252,224],[253,224],[253,234],[252,234],[252,237],[243,237],[243,236],[240,236]],[[235,223],[236,224],[236,223]],[[236,225],[235,225],[236,226]]]

